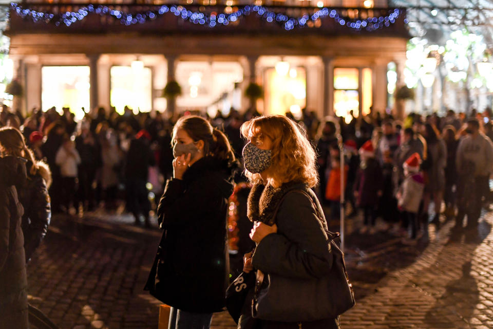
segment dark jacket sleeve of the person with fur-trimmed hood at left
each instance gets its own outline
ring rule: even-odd
[[[45,180],[36,177],[32,185],[29,205],[29,227],[24,234],[24,249],[26,261],[31,258],[34,250],[40,245],[48,231],[51,220],[50,196],[46,188]]]

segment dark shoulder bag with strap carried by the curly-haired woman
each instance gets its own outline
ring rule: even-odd
[[[319,213],[318,206],[308,192],[290,192],[306,195],[311,200],[319,220],[323,221],[323,215]],[[282,201],[283,199],[277,205],[274,220]],[[252,301],[254,318],[283,322],[315,321],[336,318],[354,306],[354,293],[349,283],[344,253],[334,242],[339,233],[325,231],[328,236],[327,245],[334,257],[330,273],[324,278],[298,279],[257,270]]]

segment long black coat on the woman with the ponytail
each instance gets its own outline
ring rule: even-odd
[[[187,312],[213,313],[224,307],[228,284],[228,198],[235,166],[205,157],[183,180],[167,181],[159,202],[164,230],[145,289]]]

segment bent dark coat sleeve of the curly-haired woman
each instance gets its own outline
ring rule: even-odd
[[[290,193],[277,214],[278,233],[260,241],[252,258],[255,268],[291,278],[321,278],[332,268],[327,235],[304,195]]]

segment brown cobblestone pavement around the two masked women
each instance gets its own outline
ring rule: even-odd
[[[442,218],[443,220],[443,218]],[[351,232],[346,262],[356,306],[342,327],[493,328],[493,214],[478,230],[430,225],[429,239],[405,246],[379,232]],[[30,303],[61,328],[157,328],[159,302],[142,290],[157,229],[130,216],[55,216],[28,266]],[[213,328],[235,328],[226,312]]]

